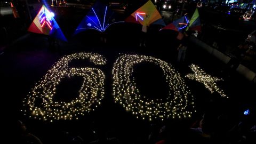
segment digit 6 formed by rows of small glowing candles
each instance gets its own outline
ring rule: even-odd
[[[68,63],[74,59],[89,59],[95,65],[106,64],[102,55],[94,53],[76,53],[61,58],[24,100],[24,106],[29,107],[30,117],[51,122],[55,119],[78,119],[79,115],[84,115],[84,112],[94,110],[94,107],[100,105],[104,95],[105,75],[98,68],[69,68]],[[83,77],[79,97],[70,102],[53,101],[56,86],[61,83],[61,79],[73,76]]]

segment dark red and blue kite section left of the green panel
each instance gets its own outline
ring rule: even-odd
[[[188,27],[188,19],[186,16],[183,16],[178,20],[173,21],[169,25],[163,27],[162,29],[171,29],[171,30],[182,32],[182,30],[185,29],[186,27]]]

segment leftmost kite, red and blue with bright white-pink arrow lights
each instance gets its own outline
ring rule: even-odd
[[[58,23],[53,18],[54,14],[43,5],[31,23],[28,31],[37,34],[49,35],[63,41],[67,41]]]

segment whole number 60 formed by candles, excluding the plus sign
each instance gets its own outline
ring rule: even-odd
[[[78,119],[78,116],[100,105],[104,93],[105,75],[99,68],[70,68],[68,63],[75,59],[89,59],[95,65],[105,65],[106,59],[95,53],[76,53],[62,57],[56,62],[38,84],[29,92],[24,106],[29,107],[30,117],[50,120]],[[169,94],[166,99],[150,100],[141,95],[133,77],[134,65],[151,62],[163,69]],[[167,62],[145,55],[121,55],[112,70],[113,95],[127,111],[142,119],[165,119],[190,117],[194,109],[193,95],[183,78]],[[70,102],[53,101],[56,86],[62,78],[81,76],[83,84],[79,97]],[[157,96],[157,95],[156,95]],[[38,102],[40,101],[40,102]],[[39,105],[38,105],[39,103]],[[37,106],[36,106],[37,105]],[[25,110],[26,111],[26,110]]]

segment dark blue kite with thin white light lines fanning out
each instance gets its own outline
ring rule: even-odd
[[[117,15],[107,5],[98,1],[92,6],[91,10],[76,28],[74,35],[86,29],[95,29],[104,32],[110,25],[118,22],[124,21],[118,21]]]

